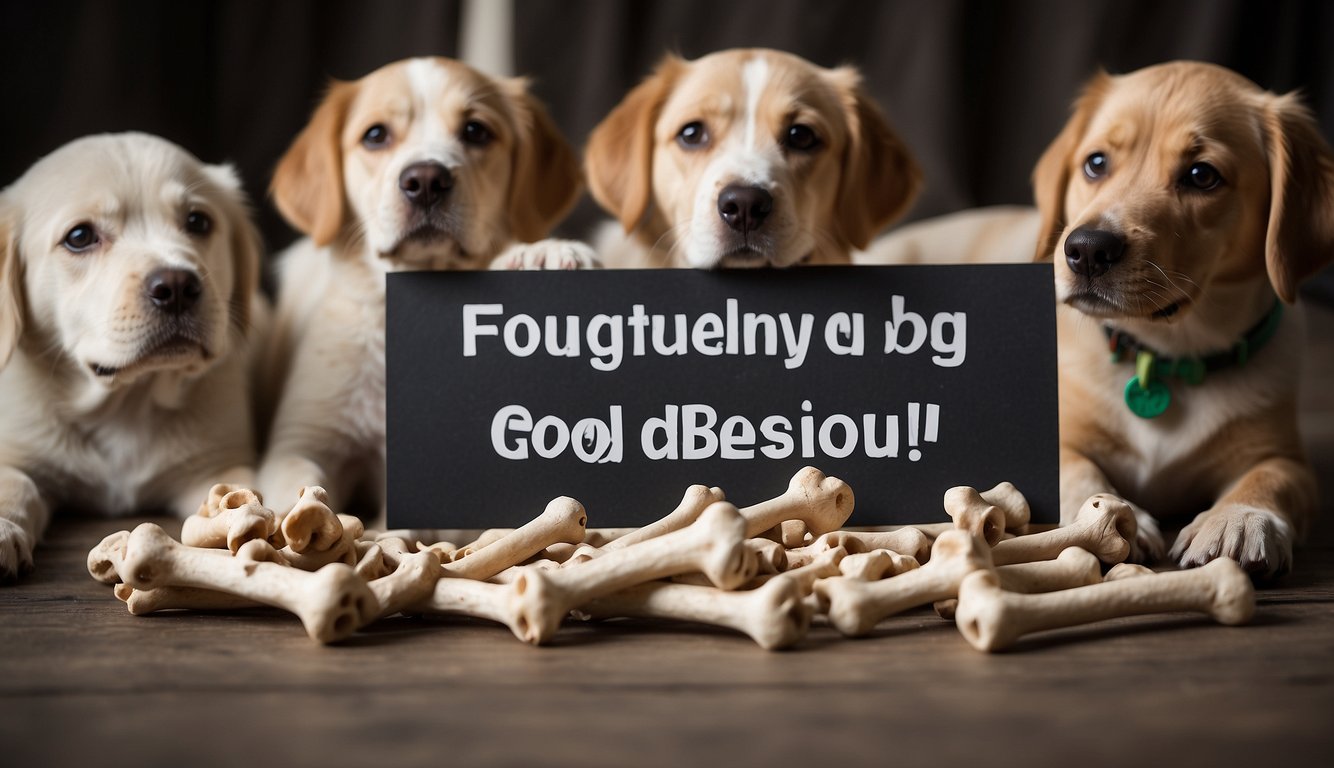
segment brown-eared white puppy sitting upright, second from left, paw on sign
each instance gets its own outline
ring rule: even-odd
[[[359,489],[383,500],[386,273],[588,265],[578,244],[523,244],[580,187],[578,157],[522,79],[411,59],[332,85],[272,183],[308,235],[281,257],[268,355],[277,404],[260,488],[275,509],[303,485],[336,504]]]

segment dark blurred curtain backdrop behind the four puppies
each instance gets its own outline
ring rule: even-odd
[[[0,3],[0,185],[60,144],[147,131],[231,161],[272,251],[265,189],[329,77],[407,56],[528,75],[575,147],[667,51],[782,48],[854,64],[916,153],[904,221],[1030,204],[1081,83],[1170,59],[1301,89],[1334,140],[1329,0],[43,0]],[[560,235],[602,215],[587,200]],[[1309,293],[1334,301],[1334,272]]]

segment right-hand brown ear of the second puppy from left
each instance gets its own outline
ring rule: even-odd
[[[510,180],[510,232],[531,243],[547,236],[579,199],[579,159],[522,77],[506,83],[519,135]]]

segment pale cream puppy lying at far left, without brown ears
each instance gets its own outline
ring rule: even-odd
[[[0,576],[63,505],[193,513],[253,481],[259,235],[231,168],[89,136],[0,193]]]

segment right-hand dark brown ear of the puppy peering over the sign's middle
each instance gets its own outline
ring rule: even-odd
[[[834,211],[835,235],[858,251],[907,212],[922,189],[922,169],[907,144],[866,93],[851,67],[830,71],[843,99],[848,141]]]

